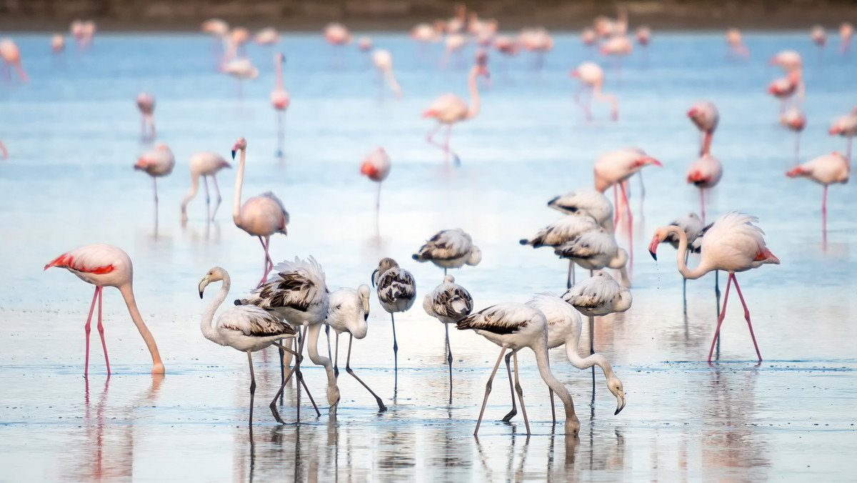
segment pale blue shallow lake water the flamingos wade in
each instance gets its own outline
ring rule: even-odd
[[[783,175],[793,164],[794,138],[776,124],[778,104],[764,88],[781,75],[766,59],[784,48],[800,51],[809,119],[802,159],[842,150],[842,138],[826,129],[852,107],[857,61],[830,47],[819,67],[802,32],[747,34],[748,63],[729,59],[719,34],[659,34],[648,61],[635,52],[620,79],[604,63],[620,121],[609,123],[596,105],[596,122],[586,123],[572,102],[567,70],[596,54],[576,35],[561,34],[541,74],[526,56],[507,70],[492,57],[482,112],[452,133],[463,164],[446,170],[440,151],[423,139],[432,123],[419,114],[437,94],[466,94],[464,69],[453,62],[439,71],[436,47],[421,52],[402,35],[374,39],[393,53],[402,100],[379,102],[375,72],[359,52],[338,61],[320,36],[284,38],[292,105],[285,159],[278,159],[267,103],[273,50],[249,48],[261,76],[245,82],[239,103],[235,82],[214,71],[211,40],[203,35],[104,34],[89,51],[70,47],[59,62],[45,35],[15,37],[31,82],[0,88],[0,139],[11,154],[0,165],[0,480],[848,480],[857,468],[850,457],[857,450],[850,410],[857,366],[848,202],[854,188],[830,188],[824,244],[821,187]],[[159,179],[157,232],[151,181],[131,169],[149,148],[139,141],[134,97],[141,89],[155,94],[159,142],[177,158],[171,176]],[[698,192],[684,173],[698,146],[685,112],[699,99],[714,101],[722,117],[712,153],[724,176],[708,196],[708,217],[732,209],[758,215],[782,261],[739,275],[760,365],[735,298],[720,362],[707,365],[716,322],[713,276],[688,283],[685,315],[672,249],[662,246],[658,263],[646,252],[657,226],[698,210]],[[189,156],[227,155],[237,136],[249,142],[244,196],[273,190],[291,214],[289,236],[272,240],[275,260],[314,255],[331,289],[368,283],[383,256],[416,276],[417,304],[397,317],[398,391],[392,331],[375,296],[369,336],[354,343],[352,367],[386,401],[386,413],[343,371],[335,421],[324,407],[315,418],[303,395],[301,424],[276,424],[267,408],[279,380],[270,351],[255,354],[250,433],[246,358],[201,336],[199,317],[212,294],[198,299],[197,283],[219,265],[232,275],[232,294],[246,292],[260,276],[261,247],[231,222],[234,171],[219,177],[224,204],[214,222],[205,221],[201,195],[189,205],[188,226],[179,223],[178,208]],[[451,331],[454,399],[447,404],[443,328],[420,306],[441,273],[412,263],[411,253],[434,232],[460,226],[484,254],[477,267],[454,271],[477,308],[562,293],[567,265],[518,239],[558,217],[545,208],[551,197],[590,185],[599,154],[627,145],[644,148],[663,167],[645,170],[644,203],[638,181],[631,183],[633,306],[596,321],[596,350],[622,379],[626,408],[613,415],[615,400],[600,372],[593,401],[590,372],[572,369],[554,349],[552,368],[581,420],[579,438],[566,438],[561,425],[551,426],[532,355],[522,353],[532,436],[520,414],[511,426],[500,422],[510,402],[500,371],[474,438],[499,351],[476,334]],[[375,185],[357,174],[376,146],[393,158],[377,228]],[[148,374],[149,355],[113,289],[104,298],[113,375],[105,376],[93,333],[92,377],[82,377],[92,287],[42,267],[96,242],[123,247],[134,260],[136,299],[166,377]],[[589,336],[584,324],[581,353]],[[307,366],[305,375],[322,404],[324,371]],[[296,419],[295,402],[290,385],[279,408],[287,421]]]

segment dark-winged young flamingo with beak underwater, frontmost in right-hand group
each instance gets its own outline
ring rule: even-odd
[[[458,330],[473,329],[476,331],[476,334],[482,335],[488,341],[492,341],[494,344],[500,346],[500,357],[497,358],[494,370],[491,371],[491,376],[488,377],[488,383],[485,384],[485,398],[482,400],[479,419],[476,420],[474,435],[479,432],[479,426],[482,424],[482,414],[485,413],[485,406],[488,404],[488,395],[491,393],[491,384],[494,381],[497,368],[500,366],[500,360],[503,359],[503,355],[509,349],[512,350],[512,358],[515,362],[515,389],[518,391],[518,401],[521,403],[521,412],[524,414],[524,425],[527,428],[527,434],[530,434],[530,421],[527,420],[527,412],[526,408],[524,408],[524,391],[521,389],[520,382],[518,381],[518,351],[524,347],[530,347],[533,353],[536,354],[536,365],[538,365],[538,371],[542,376],[542,380],[562,400],[562,404],[566,410],[566,436],[571,436],[572,438],[577,436],[580,431],[580,421],[577,414],[574,414],[572,396],[568,394],[565,386],[550,371],[547,343],[548,321],[545,319],[542,311],[530,305],[504,302],[491,305],[486,309],[470,314],[470,316],[459,320],[455,325]]]

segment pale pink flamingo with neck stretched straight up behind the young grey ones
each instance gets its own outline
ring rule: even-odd
[[[259,286],[265,282],[268,271],[273,269],[273,262],[268,255],[268,245],[271,235],[275,233],[288,234],[285,226],[289,224],[289,213],[285,211],[283,202],[271,191],[253,196],[241,204],[241,185],[244,181],[244,156],[247,153],[247,140],[239,137],[232,146],[232,159],[235,152],[241,150],[241,160],[238,162],[238,172],[235,177],[235,198],[232,204],[232,220],[235,226],[247,232],[250,236],[258,237],[259,243],[265,250],[265,268]]]

